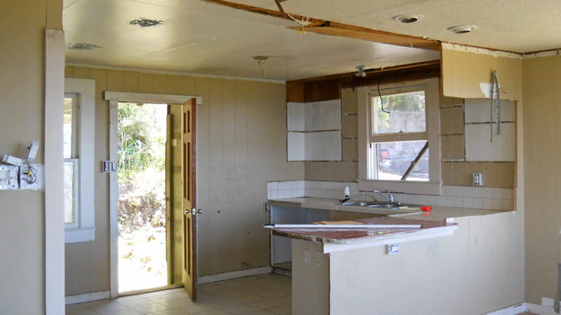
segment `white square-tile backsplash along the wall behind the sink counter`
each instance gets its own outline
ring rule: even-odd
[[[316,197],[341,199],[349,186],[351,195],[358,195],[358,183],[333,181],[271,181],[267,183],[267,198]],[[512,189],[442,186],[441,195],[393,194],[398,202],[438,207],[461,207],[487,210],[513,210]],[[360,197],[358,198],[360,200]],[[370,200],[365,197],[365,200]]]

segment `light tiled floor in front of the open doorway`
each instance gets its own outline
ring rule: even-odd
[[[66,314],[291,314],[290,276],[248,276],[205,283],[197,290],[196,303],[189,300],[183,288],[177,288],[114,300],[69,304]]]

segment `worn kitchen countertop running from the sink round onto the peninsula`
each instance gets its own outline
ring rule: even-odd
[[[273,206],[300,207],[306,209],[323,209],[332,211],[352,211],[372,214],[384,214],[385,217],[354,220],[364,224],[416,224],[421,228],[273,228],[271,233],[293,239],[305,239],[323,244],[323,253],[346,251],[395,244],[404,241],[428,239],[452,235],[459,226],[454,218],[467,216],[486,216],[504,211],[482,209],[433,207],[424,212],[416,209],[379,209],[372,207],[344,206],[338,200],[314,197],[295,197],[269,200]]]

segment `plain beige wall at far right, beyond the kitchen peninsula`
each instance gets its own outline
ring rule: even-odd
[[[522,62],[526,199],[526,300],[555,298],[561,262],[561,57]]]

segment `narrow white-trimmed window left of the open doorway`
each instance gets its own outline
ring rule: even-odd
[[[65,79],[62,116],[65,241],[93,241],[95,80]]]

